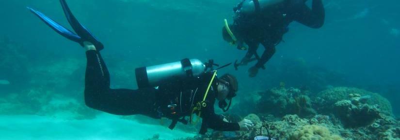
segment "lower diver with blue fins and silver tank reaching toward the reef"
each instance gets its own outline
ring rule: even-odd
[[[214,112],[214,103],[227,111],[232,98],[236,96],[238,82],[233,75],[217,78],[213,64],[204,65],[197,59],[183,59],[180,62],[136,69],[137,90],[111,89],[110,74],[100,56],[103,44],[83,27],[69,10],[65,0],[60,0],[68,22],[76,34],[29,8],[49,27],[64,37],[80,43],[86,49],[87,67],[84,98],[88,107],[116,115],[143,114],[160,119],[172,120],[169,128],[177,122],[188,123],[185,119],[192,114],[203,118],[200,134],[207,128],[220,131],[248,130],[253,123],[243,119],[239,123],[228,123],[223,116]],[[211,62],[211,61],[210,61]],[[229,104],[225,99],[230,100]],[[198,120],[198,119],[197,119]],[[196,122],[196,121],[194,121]]]

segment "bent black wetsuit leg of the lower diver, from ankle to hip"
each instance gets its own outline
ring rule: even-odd
[[[111,89],[110,74],[96,50],[86,52],[84,98],[88,107],[116,115],[152,114],[156,90]]]

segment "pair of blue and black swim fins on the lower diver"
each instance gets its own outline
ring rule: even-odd
[[[80,22],[75,18],[66,4],[65,0],[60,0],[60,3],[63,7],[64,14],[71,25],[71,27],[75,30],[76,34],[71,30],[66,29],[61,26],[54,20],[48,18],[45,14],[40,13],[30,7],[27,7],[33,14],[37,15],[43,22],[45,22],[50,28],[55,30],[57,33],[61,34],[65,38],[80,43],[81,46],[84,46],[83,42],[91,42],[96,46],[96,50],[100,51],[104,48],[103,44],[96,39],[96,37],[90,33],[90,31],[85,28]]]

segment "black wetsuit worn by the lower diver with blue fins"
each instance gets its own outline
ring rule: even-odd
[[[110,74],[95,50],[86,52],[87,68],[85,77],[85,103],[87,106],[116,115],[143,114],[152,118],[168,117],[178,120],[192,113],[192,104],[203,100],[211,79],[209,72],[185,82],[166,82],[159,88],[149,87],[137,90],[111,89]],[[216,85],[214,80],[213,85]],[[207,128],[220,131],[237,131],[237,123],[226,123],[214,112],[216,86],[208,92],[207,107],[202,110],[201,134]],[[168,105],[176,105],[173,109]]]

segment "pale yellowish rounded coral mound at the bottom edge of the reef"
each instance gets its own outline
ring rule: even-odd
[[[338,135],[331,134],[328,128],[317,125],[302,126],[290,134],[288,140],[344,140]]]

